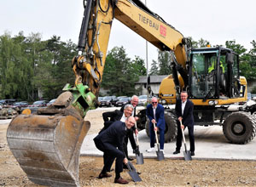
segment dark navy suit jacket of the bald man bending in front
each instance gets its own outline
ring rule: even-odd
[[[102,131],[102,133],[99,133],[94,141],[101,142],[103,147],[106,148],[108,148],[108,144],[112,144],[114,147],[117,147],[119,150],[124,152],[123,141],[125,132],[125,122],[113,122],[110,127]]]

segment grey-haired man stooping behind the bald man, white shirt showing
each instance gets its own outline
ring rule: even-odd
[[[115,111],[107,111],[102,113],[103,120],[104,120],[104,128],[108,128],[113,122],[121,121],[125,122],[125,118],[128,116],[131,116],[133,112],[133,106],[131,104],[125,105],[123,111],[115,110]],[[127,144],[128,139],[130,139],[131,147],[133,150],[137,150],[137,144],[135,142],[135,139],[133,137],[133,130],[135,130],[135,127],[132,127],[131,129],[127,129],[125,133],[125,139],[124,139],[124,151],[125,156],[127,156],[128,160],[133,160],[128,156],[128,150],[127,150]],[[124,166],[126,168],[126,166]]]

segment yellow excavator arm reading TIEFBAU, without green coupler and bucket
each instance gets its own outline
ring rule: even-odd
[[[185,72],[189,42],[173,26],[138,0],[88,0],[79,35],[79,55],[73,59],[73,71],[77,80],[89,86],[92,94],[97,97],[99,93],[113,19],[119,20],[160,50],[170,51],[172,67],[177,67],[183,79],[188,80]],[[177,76],[174,78],[178,85]]]

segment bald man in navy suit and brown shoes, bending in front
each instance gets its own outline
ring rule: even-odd
[[[106,130],[99,133],[94,140],[96,148],[102,150],[104,167],[99,175],[99,178],[111,177],[108,173],[115,161],[115,178],[114,183],[127,184],[128,181],[121,178],[120,173],[123,172],[123,162],[127,164],[128,160],[125,158],[123,141],[126,129],[131,129],[135,124],[133,116],[127,117],[125,122],[113,122]],[[118,149],[117,149],[118,148]]]

